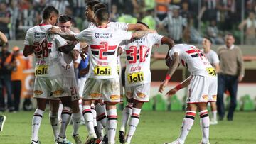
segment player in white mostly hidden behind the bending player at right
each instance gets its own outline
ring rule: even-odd
[[[220,70],[220,65],[219,65],[220,60],[218,58],[217,53],[210,49],[212,43],[213,42],[210,38],[208,37],[203,38],[203,41],[202,41],[203,54],[206,56],[210,64],[215,68],[215,71],[218,73]],[[218,124],[216,102],[215,101],[208,101],[208,102],[210,102],[210,108],[212,111],[212,118],[210,119],[210,124],[212,125]]]

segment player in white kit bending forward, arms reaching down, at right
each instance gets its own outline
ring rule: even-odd
[[[215,69],[194,45],[178,44],[169,50],[166,57],[166,63],[169,65],[169,71],[166,79],[161,83],[159,92],[163,92],[164,87],[168,84],[171,76],[174,74],[178,65],[188,68],[191,76],[178,84],[176,87],[167,92],[167,96],[176,94],[179,89],[188,87],[187,111],[181,126],[181,134],[178,139],[169,144],[183,144],[188,132],[193,126],[196,110],[199,111],[201,131],[203,138],[201,143],[209,143],[209,126],[210,119],[207,111],[208,101],[215,101],[217,94],[217,77]]]

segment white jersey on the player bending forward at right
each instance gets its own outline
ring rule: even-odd
[[[171,59],[178,52],[180,63],[188,68],[191,75],[215,76],[215,70],[203,55],[203,52],[194,45],[178,44],[169,51]]]

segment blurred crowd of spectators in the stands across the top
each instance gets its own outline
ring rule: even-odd
[[[28,28],[41,22],[41,11],[49,5],[73,16],[73,25],[82,30],[88,25],[84,16],[87,1],[90,0],[1,0],[0,31],[11,40],[23,40]],[[110,9],[111,21],[143,21],[177,43],[201,43],[208,35],[214,44],[223,44],[227,32],[240,43],[242,31],[245,44],[256,41],[255,0],[100,1]]]

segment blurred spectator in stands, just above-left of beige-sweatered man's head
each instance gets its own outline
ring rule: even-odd
[[[224,40],[218,30],[216,20],[210,21],[210,25],[206,28],[206,35],[213,40],[214,44],[224,44]]]

